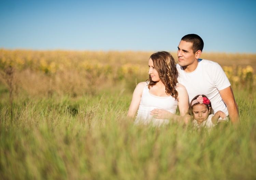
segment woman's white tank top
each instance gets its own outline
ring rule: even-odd
[[[161,97],[150,94],[148,89],[148,84],[145,84],[145,87],[142,92],[140,106],[137,112],[135,124],[149,124],[152,122],[153,125],[168,124],[168,119],[155,119],[154,116],[150,115],[150,111],[153,109],[165,109],[173,114],[176,113],[178,105],[178,100],[172,96]]]

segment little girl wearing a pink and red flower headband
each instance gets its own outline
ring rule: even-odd
[[[222,111],[217,111],[213,115],[211,102],[205,95],[197,95],[192,99],[188,114],[193,119],[193,125],[198,128],[212,128],[217,124],[219,118],[226,118],[226,114]]]

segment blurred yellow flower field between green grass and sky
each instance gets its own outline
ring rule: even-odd
[[[154,52],[32,51],[0,49],[1,81],[5,69],[15,69],[17,86],[33,95],[95,93],[125,82],[131,91],[148,78],[148,58]],[[172,53],[176,59],[176,53]],[[256,85],[256,54],[203,53],[218,62],[233,88]]]

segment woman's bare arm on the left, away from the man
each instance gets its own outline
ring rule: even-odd
[[[131,104],[126,117],[133,119],[134,116],[136,115],[140,106],[141,96],[145,85],[146,82],[141,82],[134,89]]]

